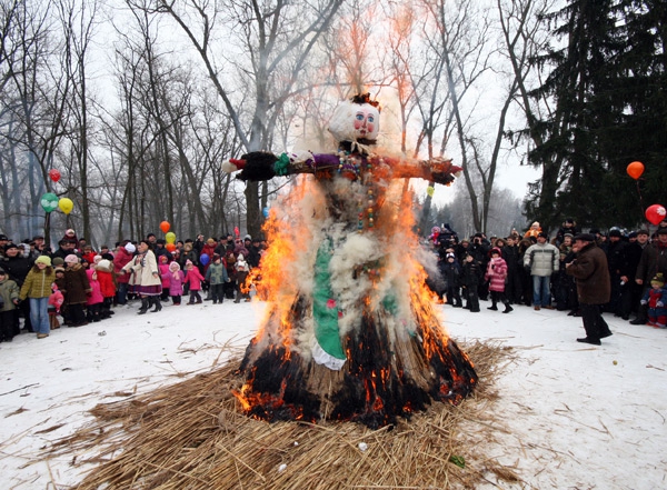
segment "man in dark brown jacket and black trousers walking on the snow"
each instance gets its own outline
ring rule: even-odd
[[[601,306],[609,302],[611,294],[607,256],[590,233],[577,234],[573,250],[577,258],[565,267],[566,272],[577,280],[577,296],[586,330],[586,337],[577,339],[577,342],[599,346],[600,339],[611,334],[601,314]]]

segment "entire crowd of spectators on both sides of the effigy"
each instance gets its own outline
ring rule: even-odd
[[[442,302],[470,312],[480,311],[480,300],[490,300],[488,309],[502,304],[502,313],[526,306],[581,316],[581,280],[568,273],[576,269],[568,264],[577,260],[576,241],[583,237],[575,220],[556,233],[538,222],[506,237],[478,232],[459,239],[448,224],[431,231],[428,247],[438,267],[428,282]],[[611,228],[586,236],[606,257],[610,292],[597,306],[600,311],[666,328],[667,221],[653,233]],[[199,234],[168,248],[149,233],[94,250],[67,230],[52,251],[40,236],[17,244],[0,234],[0,341],[21,331],[43,339],[59,328],[59,317],[70,327],[102,321],[128,299],[141,300],[139,314],[158,312],[163,302],[179,306],[181,297],[188,298],[186,304],[250,301],[252,271],[267,247],[265,240],[228,233],[206,240]]]

